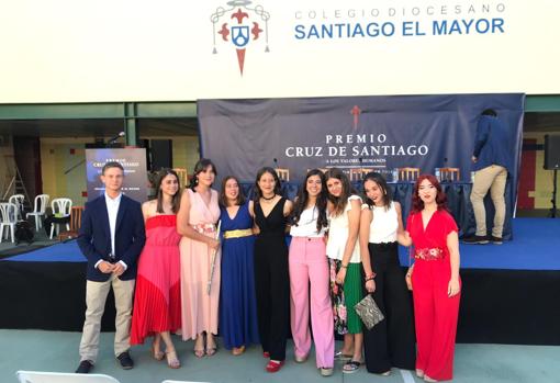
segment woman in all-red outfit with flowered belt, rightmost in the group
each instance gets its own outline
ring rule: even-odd
[[[415,263],[406,273],[416,324],[416,375],[426,382],[451,380],[459,315],[459,238],[446,195],[432,174],[418,177],[404,246],[414,246]]]

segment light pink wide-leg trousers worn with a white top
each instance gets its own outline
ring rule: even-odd
[[[311,349],[311,324],[317,368],[334,367],[334,322],[328,292],[328,261],[323,238],[293,237],[290,244],[290,324],[295,356]]]

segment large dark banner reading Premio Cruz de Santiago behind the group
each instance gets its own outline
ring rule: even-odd
[[[524,94],[200,100],[201,151],[220,176],[242,181],[254,181],[262,166],[289,169],[290,181],[329,167],[389,174],[451,167],[470,181],[477,122],[488,108],[509,126],[518,169],[524,101]]]

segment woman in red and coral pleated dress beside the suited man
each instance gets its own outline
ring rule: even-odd
[[[144,343],[154,336],[152,356],[167,357],[167,364],[178,369],[170,333],[181,328],[180,259],[177,212],[181,195],[179,177],[165,169],[156,182],[157,200],[142,205],[146,222],[146,245],[138,261],[132,316],[131,345]],[[161,350],[161,341],[165,352]]]

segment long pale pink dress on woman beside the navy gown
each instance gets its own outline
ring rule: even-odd
[[[191,189],[189,193],[191,209],[189,225],[199,233],[215,238],[215,223],[220,218],[217,192],[211,191],[210,204],[206,205],[199,193]],[[182,237],[179,244],[181,254],[181,307],[182,339],[195,339],[206,331],[217,334],[217,306],[220,302],[220,258],[215,257],[212,288],[208,294],[208,282],[212,262],[212,250],[206,244]]]

